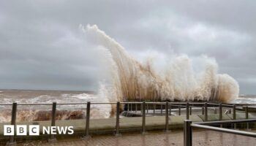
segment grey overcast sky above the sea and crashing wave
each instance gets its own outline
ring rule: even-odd
[[[97,90],[97,24],[129,53],[206,54],[256,94],[256,1],[0,1],[0,88]]]

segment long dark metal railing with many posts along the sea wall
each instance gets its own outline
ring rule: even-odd
[[[176,107],[178,110],[178,115],[181,115],[181,107],[185,108],[186,111],[186,119],[189,120],[189,115],[192,115],[192,107],[202,107],[202,115],[204,115],[204,120],[208,120],[208,109],[214,108],[215,110],[217,107],[219,108],[219,120],[222,120],[222,107],[227,108],[233,108],[233,120],[236,119],[236,108],[237,107],[244,107],[245,108],[245,118],[249,118],[249,110],[248,106],[256,105],[256,104],[216,104],[216,103],[203,103],[203,102],[86,102],[86,103],[56,103],[53,102],[50,103],[34,103],[34,104],[22,104],[22,103],[13,103],[13,104],[0,104],[1,106],[7,106],[12,105],[12,118],[11,118],[11,125],[16,125],[16,114],[17,114],[17,106],[18,105],[52,105],[51,110],[51,126],[56,125],[56,106],[57,105],[86,105],[86,130],[83,136],[83,139],[89,139],[90,138],[90,110],[91,110],[91,104],[116,104],[116,127],[115,127],[115,134],[118,136],[120,135],[120,126],[119,126],[119,113],[120,113],[120,107],[121,104],[127,105],[127,111],[131,111],[134,109],[132,105],[135,105],[135,112],[138,111],[138,104],[140,104],[140,111],[141,111],[141,117],[142,117],[142,133],[146,134],[146,111],[148,114],[148,105],[153,105],[153,115],[155,115],[155,110],[157,109],[156,105],[160,105],[161,114],[163,114],[163,107],[165,107],[165,131],[169,131],[169,117],[171,116],[171,110],[172,107]],[[197,106],[198,105],[198,106]],[[211,106],[211,107],[209,107]],[[190,112],[189,112],[190,111]],[[214,112],[217,114],[217,112]],[[222,123],[220,123],[222,124]],[[247,128],[249,127],[249,124],[247,123]],[[50,134],[50,137],[48,139],[48,142],[55,142],[56,141],[56,135]],[[15,137],[10,136],[9,144],[15,144]]]

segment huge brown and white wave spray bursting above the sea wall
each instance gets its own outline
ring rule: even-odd
[[[191,58],[176,55],[165,67],[165,74],[159,74],[150,62],[141,64],[96,25],[80,28],[95,45],[108,52],[112,72],[109,101],[229,102],[238,97],[238,82],[227,74],[217,74],[214,58],[203,56],[203,69],[196,72]]]

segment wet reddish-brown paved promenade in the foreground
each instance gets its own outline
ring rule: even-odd
[[[193,131],[193,145],[198,146],[255,146],[256,139],[252,137],[238,136],[234,134],[225,134],[217,131]],[[121,137],[108,136],[94,136],[89,140],[82,139],[64,139],[56,143],[48,143],[46,141],[37,142],[18,142],[19,146],[29,145],[53,145],[53,146],[154,146],[154,145],[184,145],[183,144],[183,131],[171,131],[165,133],[163,131],[150,131],[146,135],[142,134],[123,134]]]

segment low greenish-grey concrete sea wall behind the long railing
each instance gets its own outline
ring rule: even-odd
[[[189,119],[193,122],[202,122],[204,121],[205,115],[189,115]],[[254,115],[249,115],[249,118],[256,118]],[[184,120],[186,115],[180,116],[170,116],[168,122],[169,130],[182,130],[184,127]],[[245,119],[244,113],[236,113],[236,119]],[[165,116],[154,116],[146,117],[146,131],[153,130],[165,130]],[[219,120],[218,114],[208,115],[208,121]],[[222,120],[233,120],[232,114],[222,115]],[[132,118],[120,118],[120,127],[119,132],[135,132],[142,131],[142,118],[141,117],[132,117]],[[9,137],[4,136],[4,125],[9,125],[10,123],[0,123],[0,144],[5,144]],[[50,121],[37,121],[37,122],[20,122],[16,123],[17,125],[39,125],[40,126],[40,135],[39,136],[17,136],[15,139],[17,141],[25,139],[48,139],[50,135],[42,134],[42,126],[50,126]],[[238,124],[237,128],[245,128],[246,123]],[[56,126],[73,126],[74,134],[72,135],[57,135],[57,139],[66,138],[66,137],[83,137],[86,129],[86,120],[56,120]],[[115,134],[116,118],[105,118],[105,119],[91,119],[89,134]],[[255,128],[255,124],[251,124],[250,128]],[[1,143],[4,142],[4,143]]]

